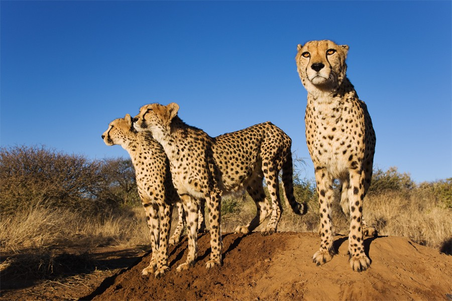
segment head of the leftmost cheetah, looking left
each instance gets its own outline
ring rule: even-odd
[[[108,124],[108,128],[102,134],[106,145],[126,145],[130,134],[135,134],[132,117],[126,114],[124,118],[118,118]]]

